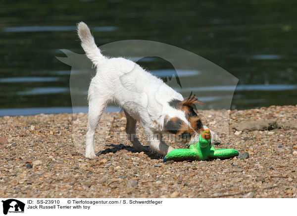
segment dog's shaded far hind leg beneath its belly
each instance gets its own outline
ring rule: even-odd
[[[129,140],[132,142],[133,148],[138,152],[147,152],[148,149],[143,147],[138,138],[136,137],[136,120],[129,115],[129,113],[124,109],[127,123],[126,123],[126,133],[128,134]]]

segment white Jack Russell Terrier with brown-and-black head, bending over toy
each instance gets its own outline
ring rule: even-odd
[[[198,142],[203,126],[193,104],[202,104],[195,96],[186,99],[162,80],[145,71],[135,62],[117,57],[107,58],[100,53],[90,29],[84,22],[78,24],[78,35],[87,56],[97,67],[89,92],[89,125],[86,157],[95,158],[94,138],[100,117],[110,101],[117,102],[127,117],[126,132],[133,147],[147,151],[136,137],[136,122],[144,127],[152,150],[166,155],[174,148],[167,146],[162,134],[174,134],[179,141]],[[218,139],[211,131],[212,141]]]

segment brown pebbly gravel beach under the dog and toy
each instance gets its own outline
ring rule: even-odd
[[[124,113],[109,112],[90,160],[83,155],[87,113],[0,117],[0,197],[297,197],[297,106],[198,113],[222,137],[215,148],[239,157],[163,163],[161,155],[136,152]],[[148,146],[139,124],[137,131]]]

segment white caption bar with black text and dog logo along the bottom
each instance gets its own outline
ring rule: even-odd
[[[295,199],[0,198],[0,215],[290,215]]]

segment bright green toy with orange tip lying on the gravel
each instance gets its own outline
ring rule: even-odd
[[[169,152],[163,162],[166,161],[205,161],[207,159],[227,159],[238,156],[235,149],[217,149],[210,145],[210,131],[204,130],[199,136],[199,142],[190,145],[189,149],[175,149]]]

